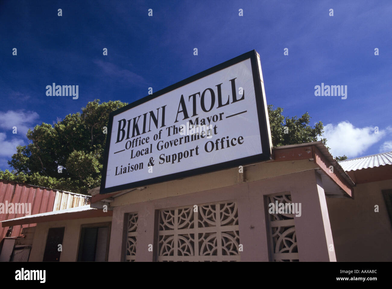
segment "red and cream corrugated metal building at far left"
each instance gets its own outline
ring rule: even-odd
[[[0,180],[0,261],[27,261],[31,254],[35,256],[39,246],[46,244],[42,240],[47,236],[41,235],[40,223],[45,219],[38,216],[54,220],[59,213],[90,207],[89,204],[90,196],[85,194]],[[44,233],[47,235],[48,230]],[[33,260],[42,261],[42,258]]]

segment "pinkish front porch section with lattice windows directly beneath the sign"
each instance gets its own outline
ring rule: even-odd
[[[327,199],[354,182],[321,142],[275,147],[273,159],[111,194],[109,261],[336,261]],[[269,204],[301,204],[270,214]],[[331,250],[332,248],[332,250]]]

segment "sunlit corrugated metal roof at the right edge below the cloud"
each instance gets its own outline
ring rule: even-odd
[[[351,160],[342,160],[339,165],[345,171],[356,171],[367,169],[368,167],[379,167],[380,165],[392,165],[392,151],[381,154],[372,154],[371,156],[361,156]]]

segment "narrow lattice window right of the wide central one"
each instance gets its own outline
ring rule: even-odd
[[[292,203],[291,194],[268,196],[268,204]],[[267,205],[268,205],[267,204]],[[270,214],[269,238],[272,261],[295,262],[299,261],[297,238],[294,225],[294,214]]]

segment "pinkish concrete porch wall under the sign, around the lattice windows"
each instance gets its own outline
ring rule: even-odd
[[[159,209],[235,201],[238,205],[241,261],[269,261],[265,196],[290,192],[301,203],[302,215],[294,217],[300,261],[335,261],[327,204],[321,178],[308,160],[263,163],[247,167],[243,178],[238,169],[194,176],[149,186],[115,198],[109,261],[122,261],[126,213],[138,212],[136,261],[152,261],[155,211]],[[297,171],[297,172],[296,172]],[[299,172],[298,172],[299,171]],[[256,180],[255,180],[256,179]]]

